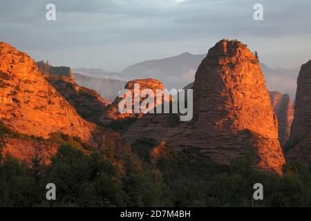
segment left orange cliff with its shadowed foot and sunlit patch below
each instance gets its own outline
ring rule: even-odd
[[[0,43],[0,120],[13,131],[26,135],[48,138],[50,133],[61,132],[100,149],[124,152],[129,148],[117,133],[104,131],[83,119],[46,81],[26,53],[6,43]],[[15,140],[6,141],[4,146],[13,156],[26,161],[35,157],[30,153],[37,154],[40,149],[43,156],[55,153],[53,146],[44,151],[46,147],[40,144],[25,145]],[[31,146],[36,150],[29,151]]]

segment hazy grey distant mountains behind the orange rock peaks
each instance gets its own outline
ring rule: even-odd
[[[110,73],[99,68],[75,68],[73,72],[87,76],[77,75],[78,84],[97,90],[105,98],[114,99],[126,81],[132,79],[154,78],[162,81],[165,88],[184,88],[194,81],[196,70],[205,57],[206,55],[192,55],[190,52],[184,52],[164,59],[142,61],[125,68],[121,73]],[[294,100],[299,68],[274,69],[263,63],[260,65],[268,90],[288,93]]]

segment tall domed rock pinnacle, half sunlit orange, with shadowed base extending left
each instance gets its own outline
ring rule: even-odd
[[[277,119],[258,59],[247,46],[219,41],[200,64],[193,88],[192,122],[171,125],[170,115],[144,115],[126,131],[126,140],[153,137],[168,148],[198,148],[225,164],[253,152],[258,167],[282,173]]]

